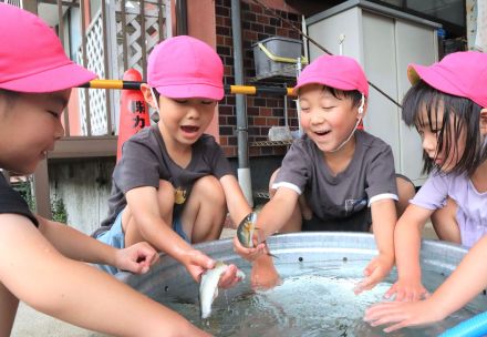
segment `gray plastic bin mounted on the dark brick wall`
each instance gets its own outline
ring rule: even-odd
[[[296,78],[296,64],[301,58],[301,40],[271,37],[253,43],[252,48],[256,79]]]

